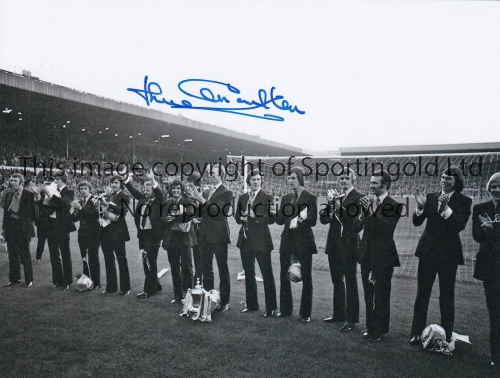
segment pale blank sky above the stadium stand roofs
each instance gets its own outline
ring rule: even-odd
[[[282,95],[246,114],[151,108],[307,150],[500,141],[500,3],[466,1],[5,1],[0,69],[147,106],[127,88]],[[208,93],[208,92],[205,92]],[[281,100],[277,101],[282,104]]]

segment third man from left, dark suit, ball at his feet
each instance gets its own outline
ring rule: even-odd
[[[73,220],[80,222],[78,229],[78,245],[83,260],[83,274],[90,277],[94,290],[101,287],[101,266],[99,264],[99,209],[94,203],[92,184],[88,181],[78,183],[80,200],[71,203],[75,210]]]

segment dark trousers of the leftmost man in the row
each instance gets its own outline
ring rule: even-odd
[[[30,255],[30,237],[20,229],[8,230],[5,235],[9,253],[9,281],[21,280],[21,265],[24,266],[24,279],[33,281],[33,265]]]

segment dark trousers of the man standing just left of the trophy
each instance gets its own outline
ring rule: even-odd
[[[179,231],[172,232],[167,254],[172,270],[174,298],[184,298],[187,290],[193,287],[193,255]]]

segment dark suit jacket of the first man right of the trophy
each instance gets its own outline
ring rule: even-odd
[[[273,204],[273,196],[265,193],[262,189],[254,198],[252,210],[255,213],[255,218],[247,218],[247,222],[241,221],[241,213],[248,212],[249,193],[243,194],[238,199],[238,206],[236,209],[236,223],[241,224],[240,234],[236,246],[241,249],[243,240],[247,238],[254,251],[272,251],[274,249],[273,239],[269,231],[269,225],[275,222],[274,217],[268,214],[268,204]]]

